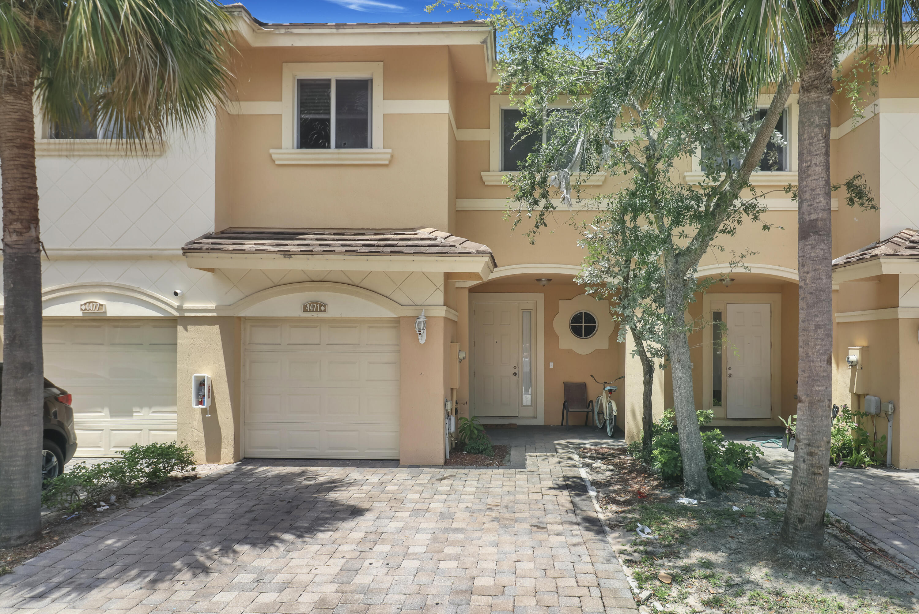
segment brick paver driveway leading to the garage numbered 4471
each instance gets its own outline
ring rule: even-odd
[[[577,469],[244,462],[0,576],[0,614],[634,612]]]

